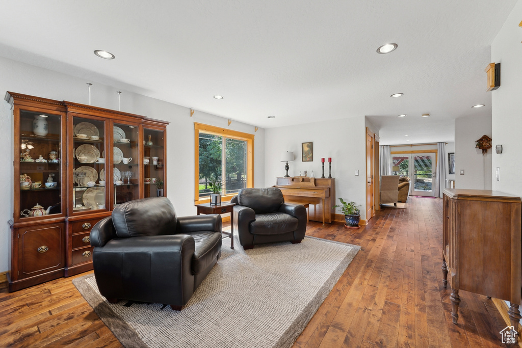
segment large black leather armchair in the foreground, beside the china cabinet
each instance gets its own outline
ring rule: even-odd
[[[176,217],[168,198],[122,203],[91,230],[100,293],[181,310],[221,256],[221,216]]]

